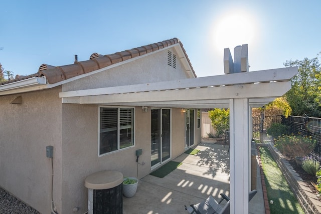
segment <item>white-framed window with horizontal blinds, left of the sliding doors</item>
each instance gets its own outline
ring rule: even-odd
[[[134,109],[99,107],[99,152],[103,155],[134,145]]]

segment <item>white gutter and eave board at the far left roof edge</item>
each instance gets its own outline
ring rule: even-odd
[[[32,77],[5,85],[0,85],[0,95],[37,91],[48,88],[46,77]]]

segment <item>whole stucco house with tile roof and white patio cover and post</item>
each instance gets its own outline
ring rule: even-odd
[[[141,178],[201,142],[199,109],[229,108],[230,213],[248,213],[251,109],[287,92],[297,68],[249,72],[246,44],[223,63],[224,75],[196,78],[174,38],[2,83],[0,186],[42,213],[52,201],[83,213],[88,175],[138,165]]]

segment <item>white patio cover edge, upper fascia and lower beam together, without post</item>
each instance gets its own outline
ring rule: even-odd
[[[219,76],[68,91],[63,103],[175,108],[228,108],[230,99],[249,98],[261,107],[291,88],[297,67]]]

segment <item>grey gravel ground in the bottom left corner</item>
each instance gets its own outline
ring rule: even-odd
[[[0,188],[0,213],[1,214],[40,214],[36,209],[26,205],[21,200]]]

